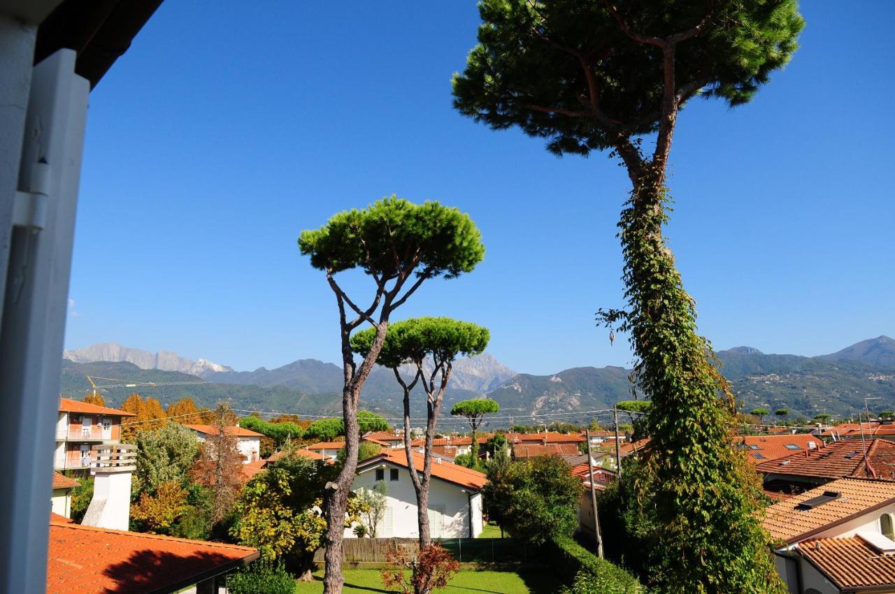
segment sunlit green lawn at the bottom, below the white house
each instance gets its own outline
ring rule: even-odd
[[[345,594],[386,593],[377,569],[345,569]],[[322,570],[314,573],[315,581],[299,581],[296,594],[319,594],[323,591]],[[552,580],[547,581],[541,572],[520,575],[514,572],[461,571],[447,584],[445,594],[555,594],[558,587]]]

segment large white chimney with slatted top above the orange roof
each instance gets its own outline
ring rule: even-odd
[[[84,519],[85,526],[127,530],[131,520],[131,475],[137,446],[103,444],[90,452],[90,473],[93,474],[93,498]]]

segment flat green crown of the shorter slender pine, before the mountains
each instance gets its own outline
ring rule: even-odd
[[[376,328],[367,328],[351,337],[354,352],[366,357]],[[458,356],[480,354],[488,346],[488,328],[451,318],[410,318],[388,326],[386,341],[379,352],[379,365],[395,369],[403,363],[454,361]]]

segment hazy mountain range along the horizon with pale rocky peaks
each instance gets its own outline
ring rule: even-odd
[[[880,398],[875,409],[895,408],[895,340],[888,336],[862,341],[839,352],[817,357],[766,354],[740,346],[717,353],[721,372],[731,382],[742,408],[793,414],[818,412],[848,415],[864,407],[865,396]],[[192,361],[173,352],[151,353],[118,344],[99,344],[66,351],[63,392],[83,393],[85,376],[122,378],[131,382],[172,384],[205,380],[191,386],[141,386],[144,395],[168,403],[190,395],[200,405],[226,400],[245,410],[332,414],[340,410],[342,369],[313,359],[277,369],[234,371],[206,360]],[[603,409],[630,398],[629,369],[584,367],[538,376],[516,373],[489,353],[454,364],[445,409],[456,400],[489,395],[518,420],[533,413],[574,413]],[[130,392],[110,388],[107,400],[120,403]],[[423,399],[413,396],[414,414]],[[401,393],[391,370],[376,368],[362,391],[364,408],[398,416]],[[572,415],[558,414],[568,419]]]

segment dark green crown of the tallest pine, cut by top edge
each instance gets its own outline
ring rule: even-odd
[[[518,126],[556,154],[616,148],[659,127],[661,50],[638,43],[601,0],[482,0],[479,45],[453,80],[454,106],[495,130]],[[804,21],[795,0],[710,6],[704,31],[678,43],[675,80],[689,98],[751,99],[796,50]],[[629,30],[666,38],[691,30],[706,3],[636,0],[621,5]],[[699,89],[703,89],[699,93]]]

